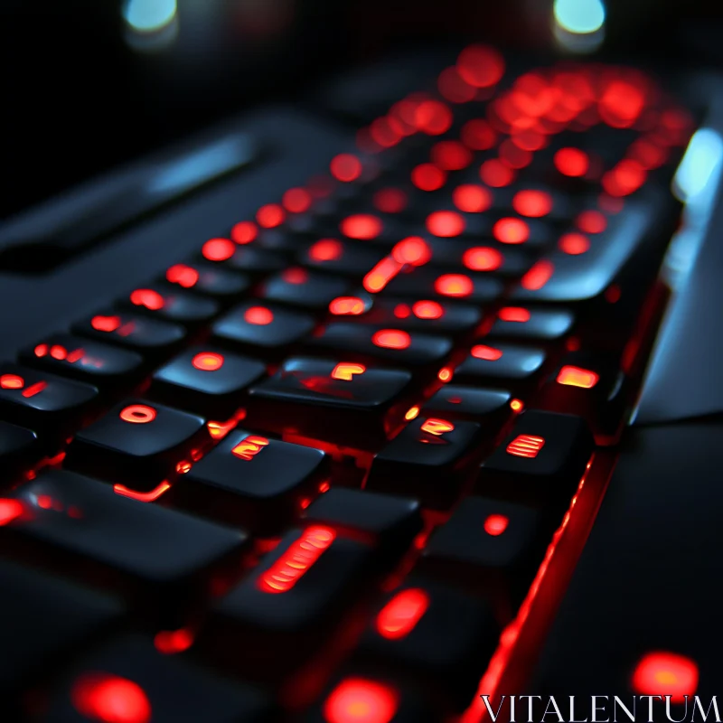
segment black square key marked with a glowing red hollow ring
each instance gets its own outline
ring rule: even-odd
[[[149,492],[173,480],[210,444],[203,418],[162,404],[127,399],[76,435],[65,464]]]

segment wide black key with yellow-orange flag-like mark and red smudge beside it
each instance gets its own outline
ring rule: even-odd
[[[374,449],[403,420],[411,374],[295,357],[250,390],[249,426]]]

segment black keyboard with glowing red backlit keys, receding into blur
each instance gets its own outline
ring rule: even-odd
[[[101,268],[158,230],[129,192],[4,247],[127,286],[66,288],[0,365],[6,719],[475,723],[524,692],[665,312],[696,126],[641,70],[472,45],[333,157],[290,133],[306,180],[259,180],[255,211],[165,209],[190,253],[149,231]],[[692,695],[685,664],[631,690]]]

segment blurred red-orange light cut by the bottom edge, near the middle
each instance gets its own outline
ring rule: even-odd
[[[399,707],[399,694],[387,685],[365,678],[346,678],[324,701],[326,723],[390,723]]]

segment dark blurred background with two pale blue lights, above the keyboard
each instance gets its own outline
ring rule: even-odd
[[[262,102],[483,40],[663,69],[723,65],[708,0],[3,0],[0,220]],[[442,49],[440,51],[440,49]]]

